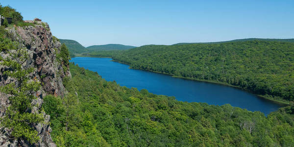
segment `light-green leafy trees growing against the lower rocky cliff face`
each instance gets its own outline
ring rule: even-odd
[[[20,57],[19,57],[20,58]],[[22,58],[20,58],[22,59]],[[11,59],[1,59],[1,65],[10,68],[5,71],[6,76],[10,76],[18,81],[18,84],[10,83],[0,87],[0,91],[9,94],[11,105],[7,108],[5,116],[1,119],[1,126],[12,130],[11,136],[16,139],[26,139],[33,144],[39,141],[38,132],[32,128],[32,124],[41,123],[44,118],[38,112],[31,113],[33,95],[40,88],[40,83],[32,81],[28,74],[33,69],[22,69],[22,66]]]

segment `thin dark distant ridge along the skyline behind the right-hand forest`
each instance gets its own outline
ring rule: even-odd
[[[173,45],[186,45],[186,44],[221,44],[226,42],[245,42],[245,41],[280,41],[280,42],[294,42],[294,39],[264,39],[264,38],[247,38],[247,39],[236,39],[230,41],[220,41],[220,42],[205,42],[205,43],[177,43]]]

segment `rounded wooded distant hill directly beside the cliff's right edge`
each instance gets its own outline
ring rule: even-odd
[[[82,46],[81,44],[79,44],[77,41],[74,40],[69,40],[69,39],[59,39],[61,44],[65,44],[70,53],[82,53],[87,51],[87,49]]]

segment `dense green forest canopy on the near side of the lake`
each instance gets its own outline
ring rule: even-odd
[[[121,87],[70,64],[65,98],[44,98],[58,146],[293,146],[291,106],[268,117],[230,105],[188,103]]]

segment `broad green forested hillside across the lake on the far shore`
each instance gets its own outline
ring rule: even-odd
[[[120,52],[91,52],[130,68],[217,82],[277,101],[294,100],[294,43],[148,45]]]

